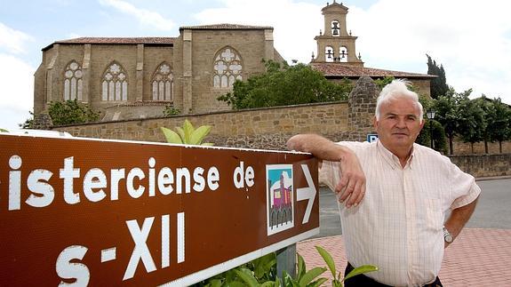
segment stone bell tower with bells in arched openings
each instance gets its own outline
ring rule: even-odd
[[[339,63],[363,67],[360,54],[355,51],[356,36],[347,33],[346,15],[347,7],[342,3],[326,4],[321,10],[324,16],[324,29],[319,36],[315,36],[317,54],[311,62]]]

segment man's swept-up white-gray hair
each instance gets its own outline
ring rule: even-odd
[[[379,109],[383,103],[386,103],[392,99],[407,98],[413,100],[419,108],[419,118],[420,123],[422,123],[424,110],[422,108],[422,104],[419,102],[419,95],[416,92],[408,90],[409,85],[411,85],[410,82],[402,79],[397,79],[383,87],[379,93],[378,99],[376,100],[375,116],[377,120],[379,120],[379,117],[381,116]]]

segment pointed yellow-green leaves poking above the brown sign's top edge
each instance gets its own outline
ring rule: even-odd
[[[175,127],[176,132],[165,127],[160,127],[164,132],[165,139],[173,144],[212,146],[211,142],[204,142],[204,138],[212,131],[211,125],[201,125],[195,128],[190,121],[185,120],[183,127]]]

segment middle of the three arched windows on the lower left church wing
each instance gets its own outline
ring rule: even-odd
[[[108,66],[101,82],[102,100],[128,100],[128,79],[124,68],[116,62]]]

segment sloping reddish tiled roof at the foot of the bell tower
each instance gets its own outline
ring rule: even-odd
[[[434,78],[436,76],[408,73],[401,71],[384,70],[380,68],[364,68],[343,65],[339,63],[310,63],[310,66],[317,71],[323,73],[326,77],[359,77],[359,76],[371,76],[371,77],[384,77],[384,76],[395,76],[395,77],[406,77],[406,78]]]

